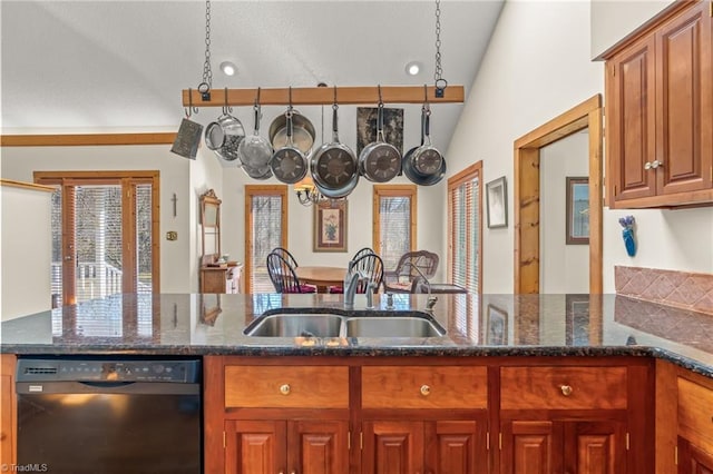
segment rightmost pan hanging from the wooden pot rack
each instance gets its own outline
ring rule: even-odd
[[[434,185],[446,175],[446,159],[431,145],[430,115],[431,110],[426,102],[421,108],[421,146],[410,149],[403,158],[403,174],[421,186]]]

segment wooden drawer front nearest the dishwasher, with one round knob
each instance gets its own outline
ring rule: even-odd
[[[225,407],[346,408],[349,367],[226,366]]]

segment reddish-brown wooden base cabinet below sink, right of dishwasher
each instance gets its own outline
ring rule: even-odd
[[[207,356],[204,369],[207,474],[654,468],[645,358]]]

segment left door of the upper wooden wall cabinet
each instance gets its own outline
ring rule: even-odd
[[[654,38],[644,38],[607,61],[607,187],[615,201],[656,194]]]

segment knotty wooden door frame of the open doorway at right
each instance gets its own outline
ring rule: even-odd
[[[597,93],[515,140],[515,294],[538,294],[540,149],[589,129],[589,294],[603,292],[603,108]]]

